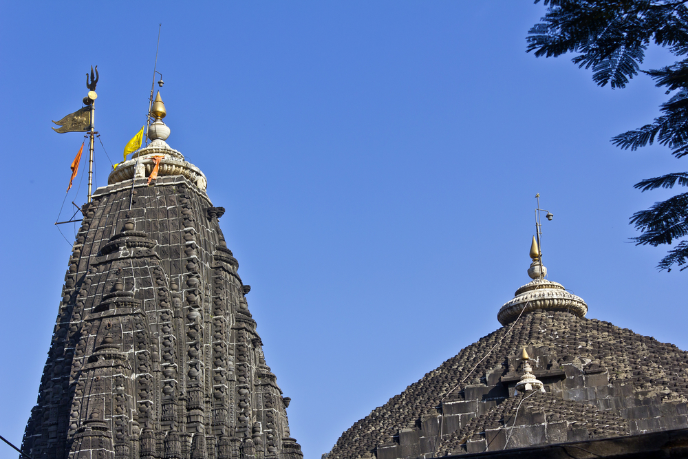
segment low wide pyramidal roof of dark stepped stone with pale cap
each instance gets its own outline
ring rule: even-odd
[[[688,427],[688,352],[587,319],[587,310],[536,277],[499,311],[502,328],[356,421],[328,459],[431,458]],[[544,393],[516,390],[524,346]]]

